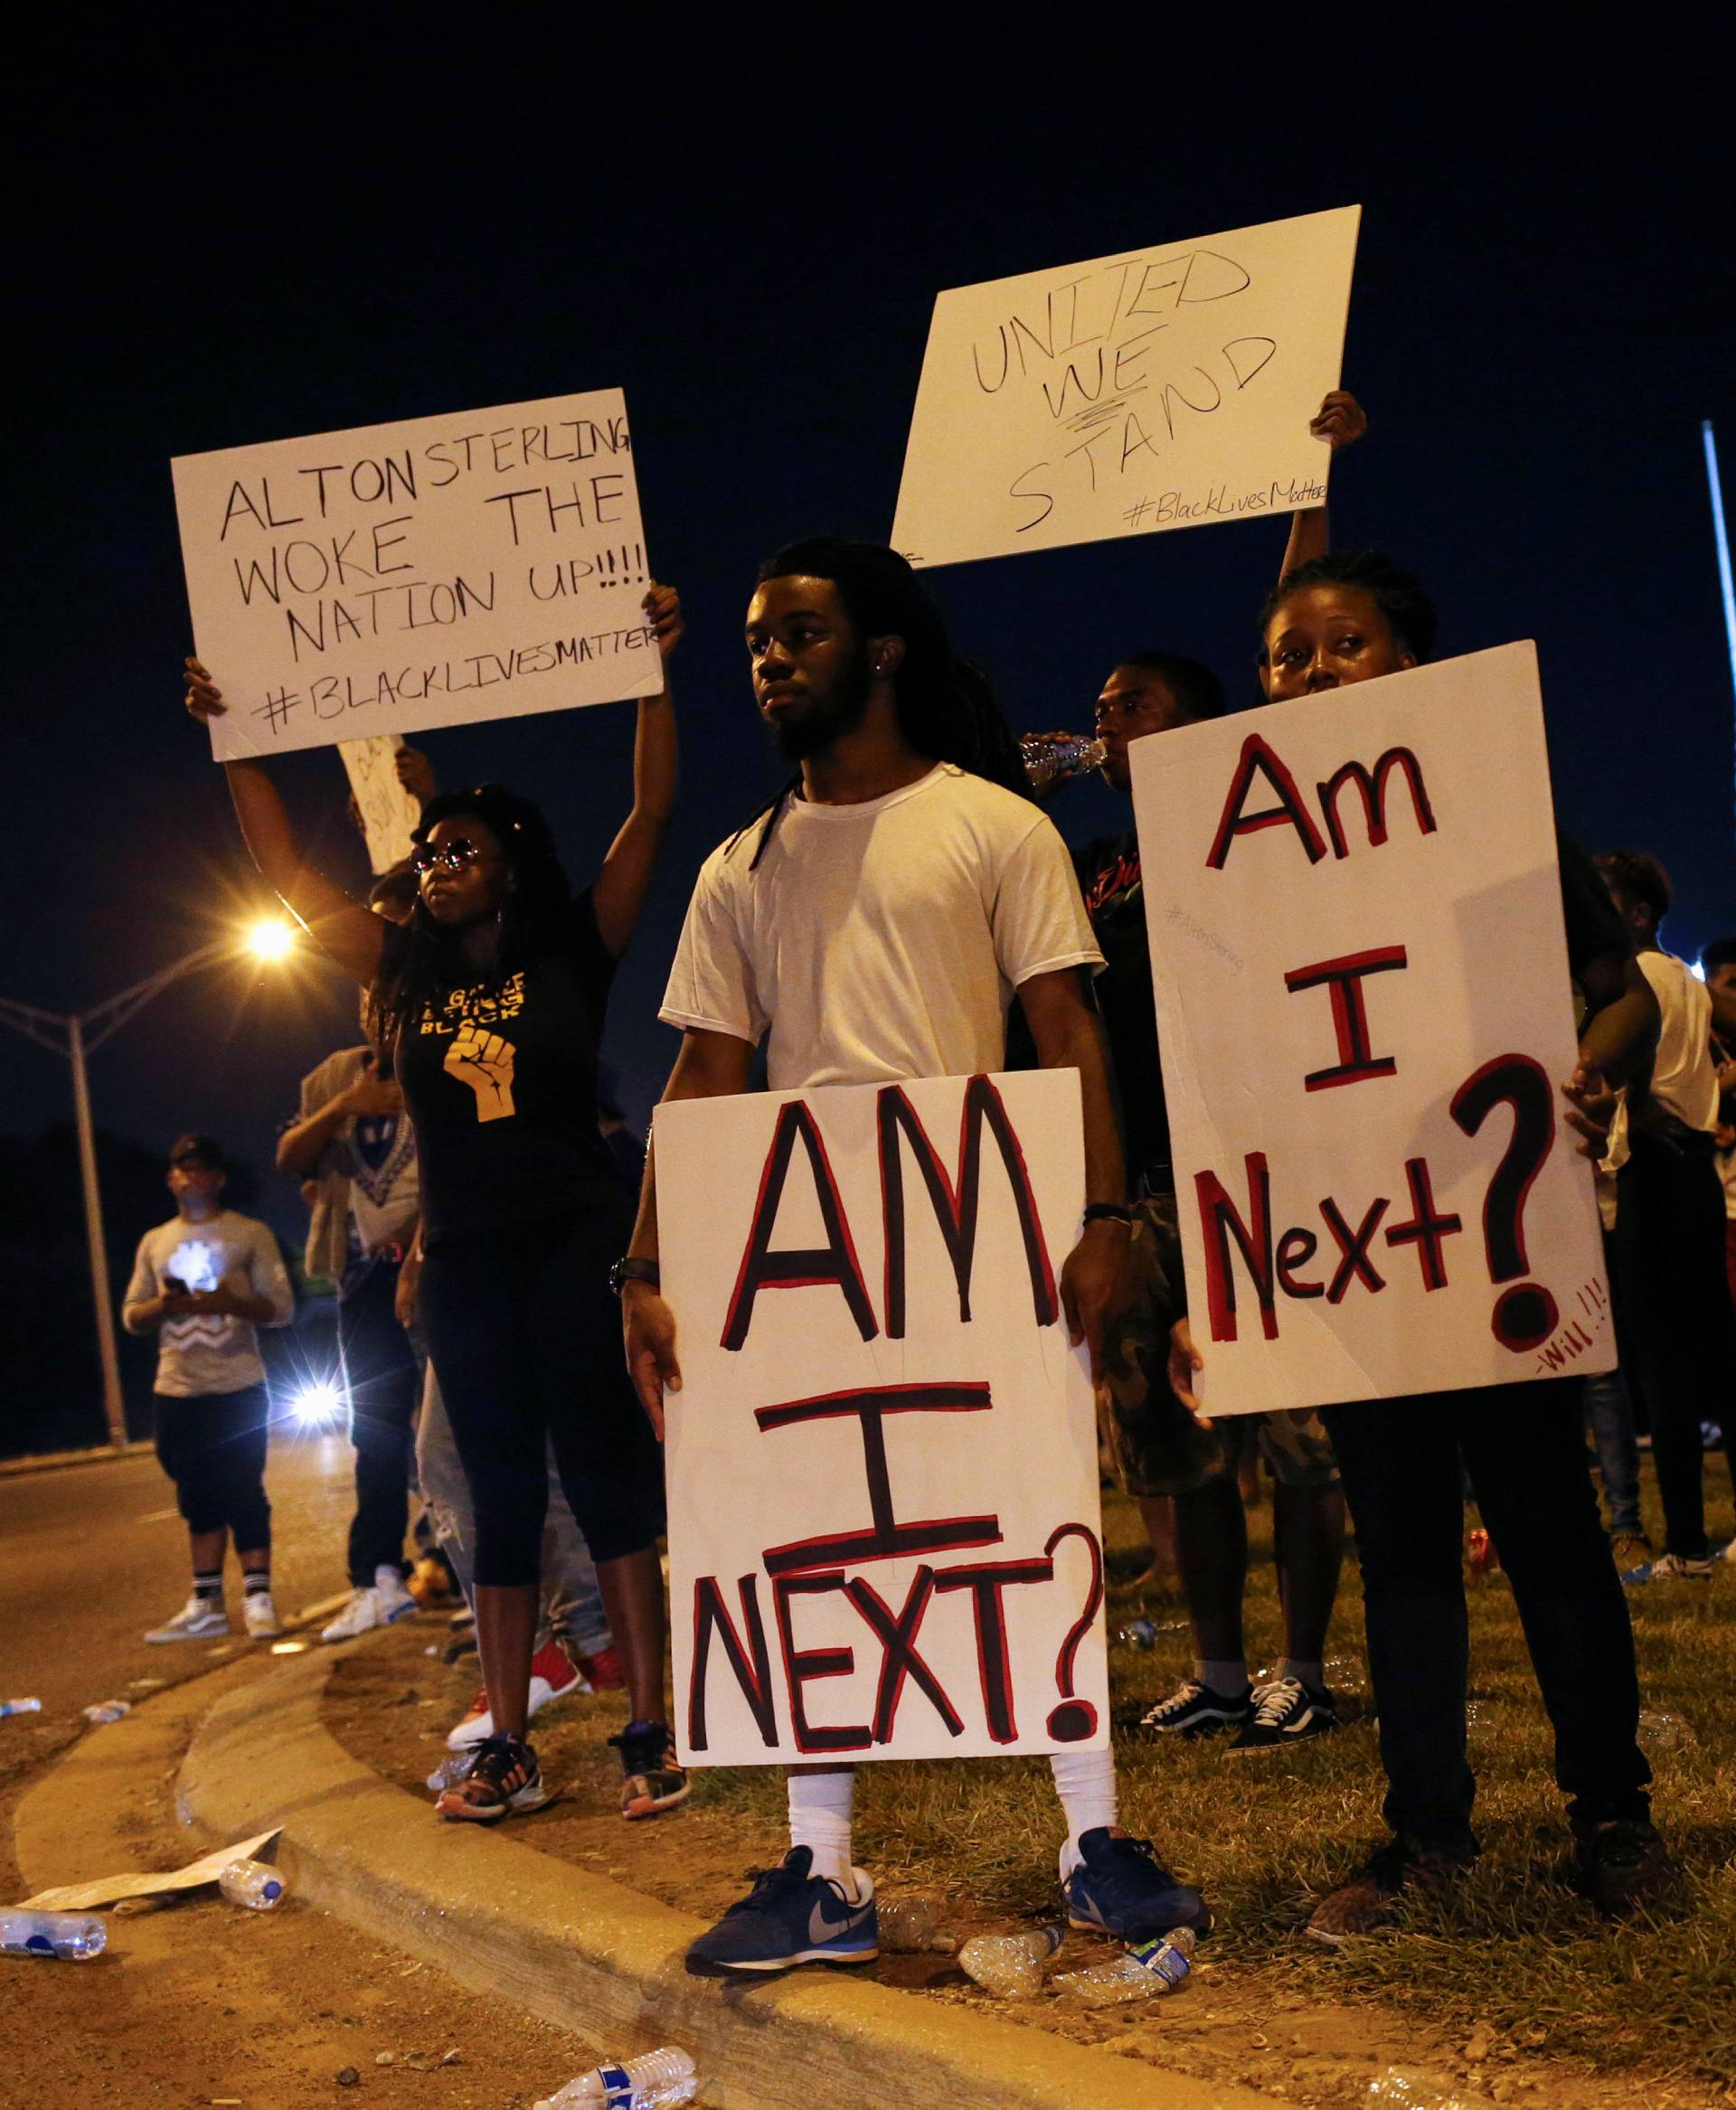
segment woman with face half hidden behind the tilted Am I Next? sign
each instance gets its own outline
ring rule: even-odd
[[[1428,658],[1434,608],[1373,553],[1291,572],[1261,612],[1270,703],[1329,694]],[[1565,1120],[1601,1154],[1607,1080],[1647,1057],[1658,1006],[1588,859],[1561,842],[1567,960],[1586,998]],[[1563,992],[1565,994],[1565,992]],[[1202,1359],[1177,1340],[1171,1382],[1198,1409]],[[1580,1384],[1544,1380],[1323,1407],[1363,1561],[1369,1675],[1380,1713],[1392,1838],[1308,1922],[1339,1943],[1388,1926],[1405,1895],[1439,1891],[1477,1859],[1466,1764],[1468,1618],[1462,1473],[1502,1551],[1544,1707],[1557,1781],[1571,1798],[1593,1901],[1626,1914],[1660,1901],[1673,1865],[1652,1827],[1652,1772],[1637,1743],[1639,1680],[1626,1601],[1584,1458]]]

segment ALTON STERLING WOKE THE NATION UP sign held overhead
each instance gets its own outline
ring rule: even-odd
[[[662,688],[618,388],[173,468],[217,762]]]

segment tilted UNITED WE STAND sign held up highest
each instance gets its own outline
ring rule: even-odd
[[[1107,542],[1327,498],[1361,207],[941,293],[892,546]]]

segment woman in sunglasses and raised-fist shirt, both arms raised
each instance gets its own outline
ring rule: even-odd
[[[662,660],[681,635],[671,587],[645,595]],[[188,660],[188,709],[224,711]],[[525,1743],[544,1443],[584,1532],[633,1720],[614,1739],[622,1812],[686,1800],[662,1718],[662,1469],[620,1367],[610,1264],[633,1196],[597,1125],[597,1044],[614,966],[639,920],[675,804],[675,717],[639,701],[633,810],[572,895],[538,808],[498,785],[422,810],[418,901],[384,924],[308,867],[266,764],[228,764],[253,863],[325,952],[373,994],[422,1156],[420,1315],[477,1509],[477,1646],[494,1734],[441,1794],[491,1823],[548,1800]]]

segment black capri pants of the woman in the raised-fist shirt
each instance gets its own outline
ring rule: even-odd
[[[662,1530],[662,1450],[626,1376],[620,1211],[443,1236],[418,1312],[477,1511],[477,1582],[536,1585],[553,1443],[593,1561]]]

